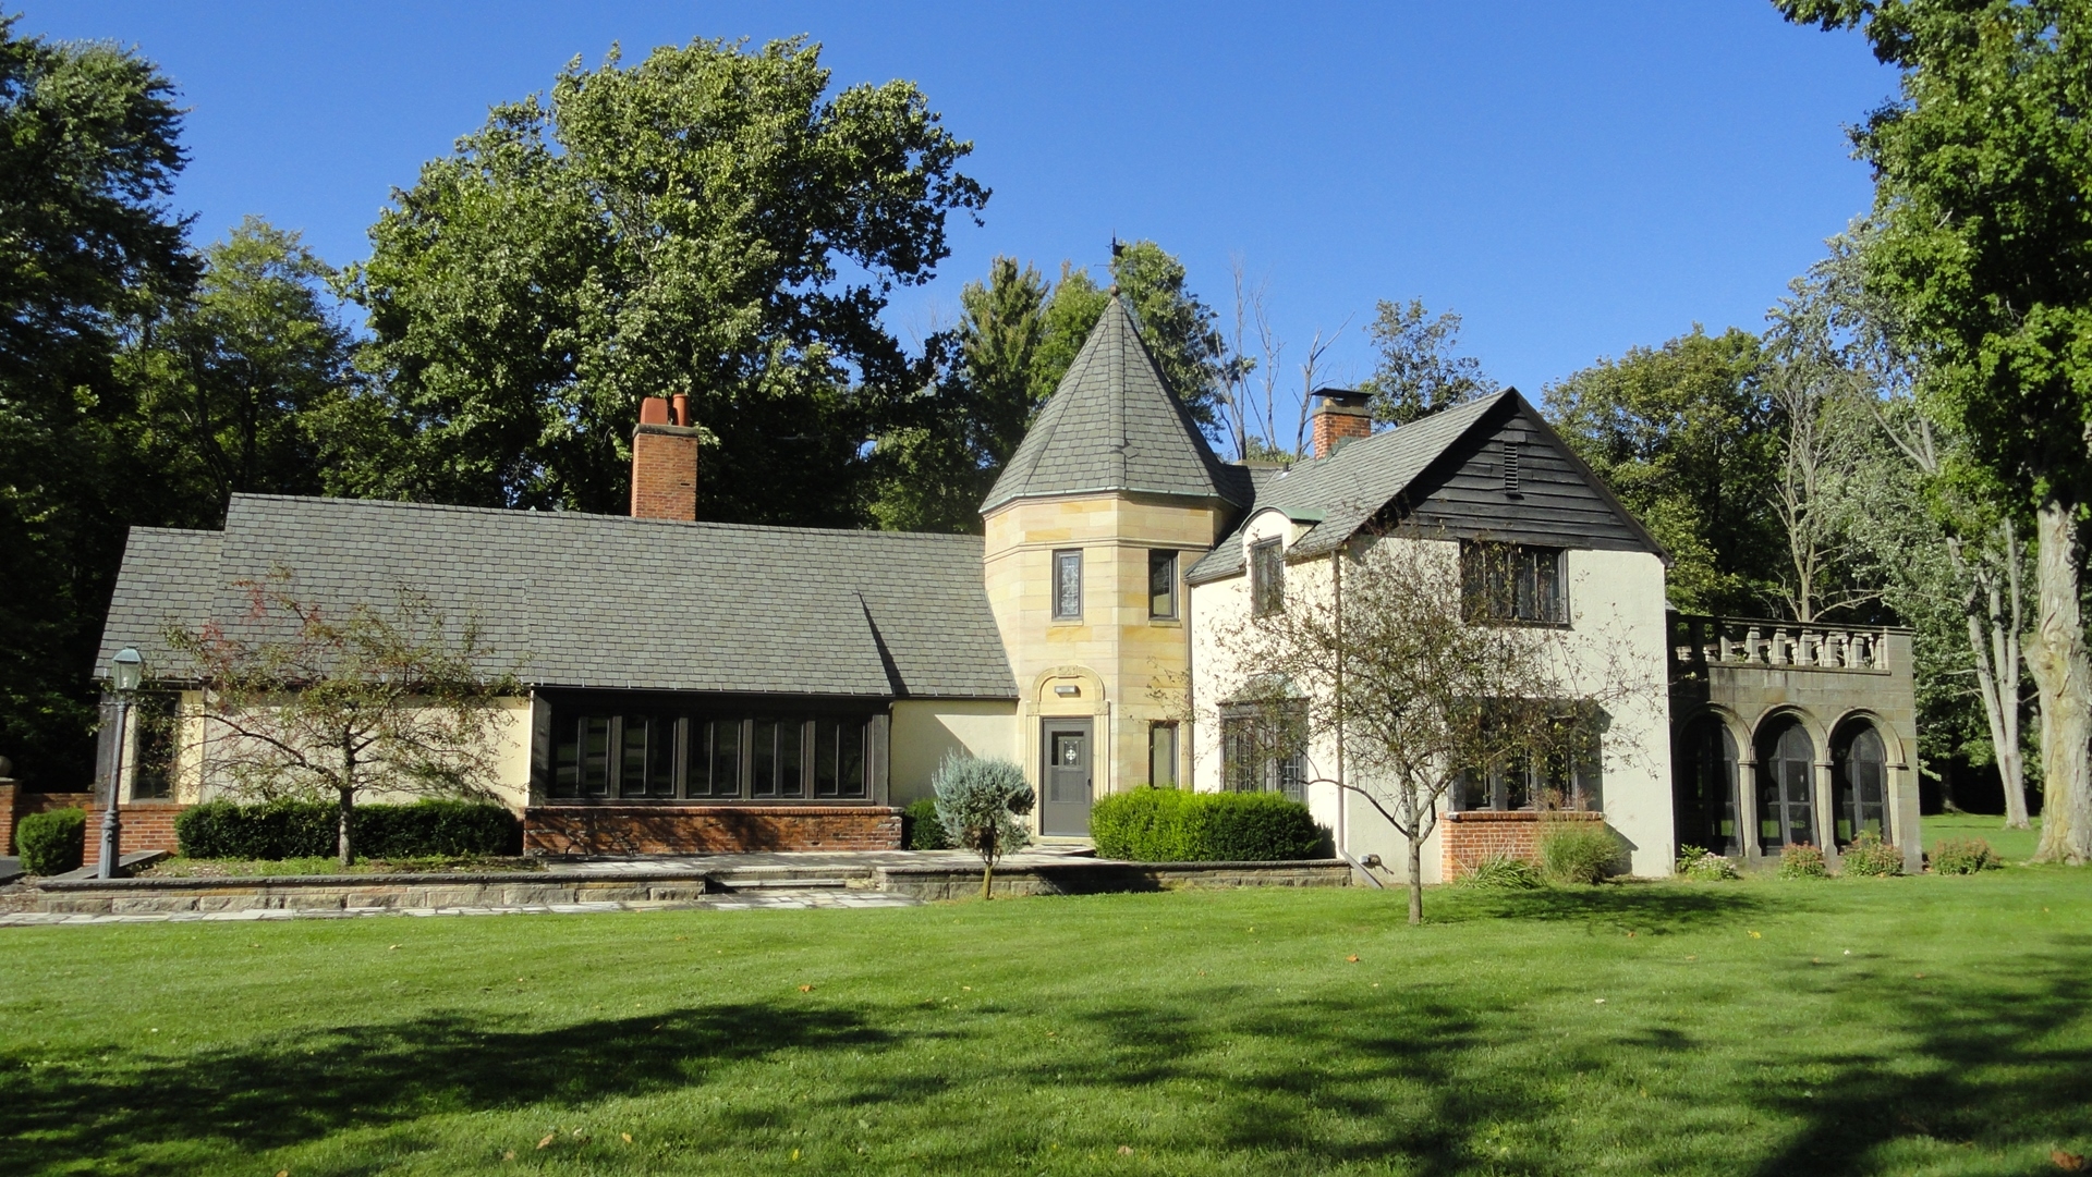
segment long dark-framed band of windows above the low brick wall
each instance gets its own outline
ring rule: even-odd
[[[554,707],[542,788],[554,801],[862,801],[870,725],[862,713],[747,719]]]

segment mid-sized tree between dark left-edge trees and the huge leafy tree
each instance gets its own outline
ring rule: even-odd
[[[333,270],[299,234],[247,217],[203,251],[192,299],[126,353],[142,443],[215,516],[234,493],[318,493],[318,424],[354,385]]]

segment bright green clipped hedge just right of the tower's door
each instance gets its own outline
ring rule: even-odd
[[[1090,809],[1096,853],[1132,861],[1295,861],[1322,857],[1322,830],[1276,792],[1136,788]]]

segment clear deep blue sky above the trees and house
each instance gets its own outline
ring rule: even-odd
[[[259,213],[358,259],[393,186],[575,54],[810,33],[839,84],[920,84],[996,192],[897,295],[900,332],[950,322],[996,253],[1100,268],[1149,236],[1220,307],[1241,257],[1289,364],[1349,320],[1335,376],[1360,378],[1374,301],[1423,297],[1533,395],[1695,322],[1759,326],[1866,209],[1843,125],[1895,86],[1766,0],[17,2],[25,31],[136,44],[180,84],[199,240]]]

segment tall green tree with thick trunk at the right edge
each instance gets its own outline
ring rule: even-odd
[[[1778,0],[1858,27],[1902,96],[1854,130],[1874,169],[1868,282],[1925,347],[1971,460],[2031,504],[2046,861],[2092,861],[2092,8],[2084,0]]]

